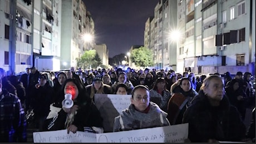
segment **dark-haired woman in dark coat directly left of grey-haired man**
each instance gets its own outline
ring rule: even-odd
[[[198,92],[191,88],[191,82],[188,78],[182,78],[179,87],[181,89],[175,92],[168,102],[167,118],[171,125],[182,123],[186,108],[190,105],[191,100],[198,95]]]

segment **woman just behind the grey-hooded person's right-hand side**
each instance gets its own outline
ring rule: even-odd
[[[157,78],[155,85],[150,90],[150,101],[155,102],[161,110],[167,112],[168,101],[171,98],[171,93],[166,89],[164,78]]]

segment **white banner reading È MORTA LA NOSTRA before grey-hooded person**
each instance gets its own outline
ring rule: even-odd
[[[179,143],[188,138],[188,123],[165,127],[145,128],[140,130],[97,133],[97,142],[125,142],[125,143]]]

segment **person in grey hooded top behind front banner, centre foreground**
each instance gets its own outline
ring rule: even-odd
[[[166,112],[149,99],[150,92],[146,86],[135,86],[129,108],[122,110],[120,115],[115,117],[113,131],[169,126]]]

